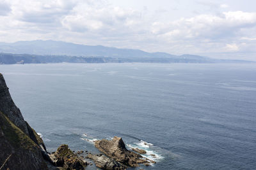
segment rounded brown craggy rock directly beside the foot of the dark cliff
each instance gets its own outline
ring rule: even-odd
[[[83,162],[81,157],[77,157],[77,155],[68,148],[68,145],[61,145],[54,154],[50,155],[50,158],[55,166],[61,166],[65,169],[81,170],[87,165],[86,162]]]

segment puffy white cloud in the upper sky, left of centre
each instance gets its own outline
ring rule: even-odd
[[[73,13],[66,15],[61,23],[70,31],[108,32],[117,31],[121,27],[131,27],[137,23],[136,18],[140,18],[140,12],[132,9],[81,4],[74,8]]]

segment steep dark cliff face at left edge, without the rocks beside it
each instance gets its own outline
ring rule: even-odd
[[[0,73],[0,167],[48,169],[42,156],[44,142],[13,103]]]

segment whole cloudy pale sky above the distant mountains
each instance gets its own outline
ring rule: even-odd
[[[256,60],[255,0],[0,0],[0,41]]]

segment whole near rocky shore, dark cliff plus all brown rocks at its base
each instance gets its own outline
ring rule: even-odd
[[[0,73],[0,170],[7,169],[86,169],[92,165],[100,169],[122,170],[128,167],[156,164],[140,154],[139,148],[127,150],[122,138],[95,141],[102,154],[88,151],[74,152],[68,145],[61,145],[56,152],[49,153],[44,141],[22,117],[22,113],[10,96],[9,89]]]

